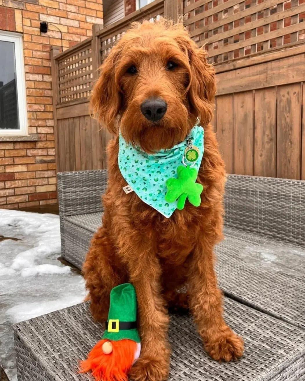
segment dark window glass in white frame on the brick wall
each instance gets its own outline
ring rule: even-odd
[[[0,130],[19,130],[14,42],[0,36]]]

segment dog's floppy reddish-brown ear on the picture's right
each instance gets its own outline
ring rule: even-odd
[[[189,85],[187,90],[191,113],[198,117],[203,126],[213,115],[216,92],[215,69],[207,62],[207,52],[198,48],[191,38],[180,40],[189,59]]]

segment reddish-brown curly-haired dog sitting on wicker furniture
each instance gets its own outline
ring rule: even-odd
[[[167,306],[185,304],[175,290],[187,285],[188,304],[205,350],[215,360],[242,355],[243,341],[224,322],[222,293],[213,268],[213,248],[222,239],[225,171],[209,122],[215,73],[181,23],[161,19],[134,23],[101,66],[91,104],[100,122],[146,152],[183,141],[199,118],[204,157],[197,182],[204,186],[200,207],[186,203],[170,218],[125,194],[118,166],[118,137],[108,145],[108,189],[103,226],[94,235],[83,271],[91,311],[107,319],[111,288],[131,282],[138,297],[142,351],[130,378],[161,381],[169,373]],[[147,100],[165,102],[155,119],[142,113]],[[143,108],[143,107],[142,107]],[[153,112],[153,110],[152,110]],[[181,300],[179,300],[181,299]]]

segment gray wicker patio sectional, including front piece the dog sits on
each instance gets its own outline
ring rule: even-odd
[[[62,255],[81,267],[101,223],[106,171],[58,174]],[[245,341],[237,362],[203,351],[188,316],[170,325],[170,381],[305,381],[305,181],[229,175],[217,272],[225,318]],[[18,380],[93,380],[77,374],[102,335],[88,303],[14,327]]]

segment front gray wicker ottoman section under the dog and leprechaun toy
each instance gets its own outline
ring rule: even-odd
[[[225,318],[245,340],[238,362],[218,363],[202,349],[190,317],[172,316],[170,381],[283,381],[305,379],[305,330],[225,298]],[[18,381],[92,380],[77,374],[103,326],[88,304],[15,325]]]

